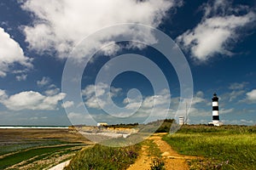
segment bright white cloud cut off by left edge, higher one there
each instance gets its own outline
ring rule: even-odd
[[[10,67],[19,64],[24,69],[32,68],[32,59],[24,55],[20,44],[0,27],[0,77],[5,77]]]

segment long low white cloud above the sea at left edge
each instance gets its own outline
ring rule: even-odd
[[[64,99],[65,96],[66,94],[62,93],[54,96],[44,96],[34,91],[25,91],[8,96],[5,91],[0,90],[0,103],[12,111],[52,111],[57,109],[58,102]]]

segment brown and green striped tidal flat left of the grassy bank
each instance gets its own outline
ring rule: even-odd
[[[90,144],[70,129],[0,129],[0,169],[43,169]]]

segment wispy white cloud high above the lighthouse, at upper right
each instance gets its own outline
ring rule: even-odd
[[[253,23],[256,14],[247,6],[232,7],[225,0],[211,1],[204,10],[201,22],[177,37],[177,42],[200,61],[206,61],[215,54],[232,55],[230,42],[241,37],[244,32],[239,29]]]

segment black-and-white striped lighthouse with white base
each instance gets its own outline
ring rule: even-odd
[[[209,122],[208,124],[214,126],[223,125],[223,122],[219,122],[218,97],[216,93],[214,93],[212,97],[212,122]]]

